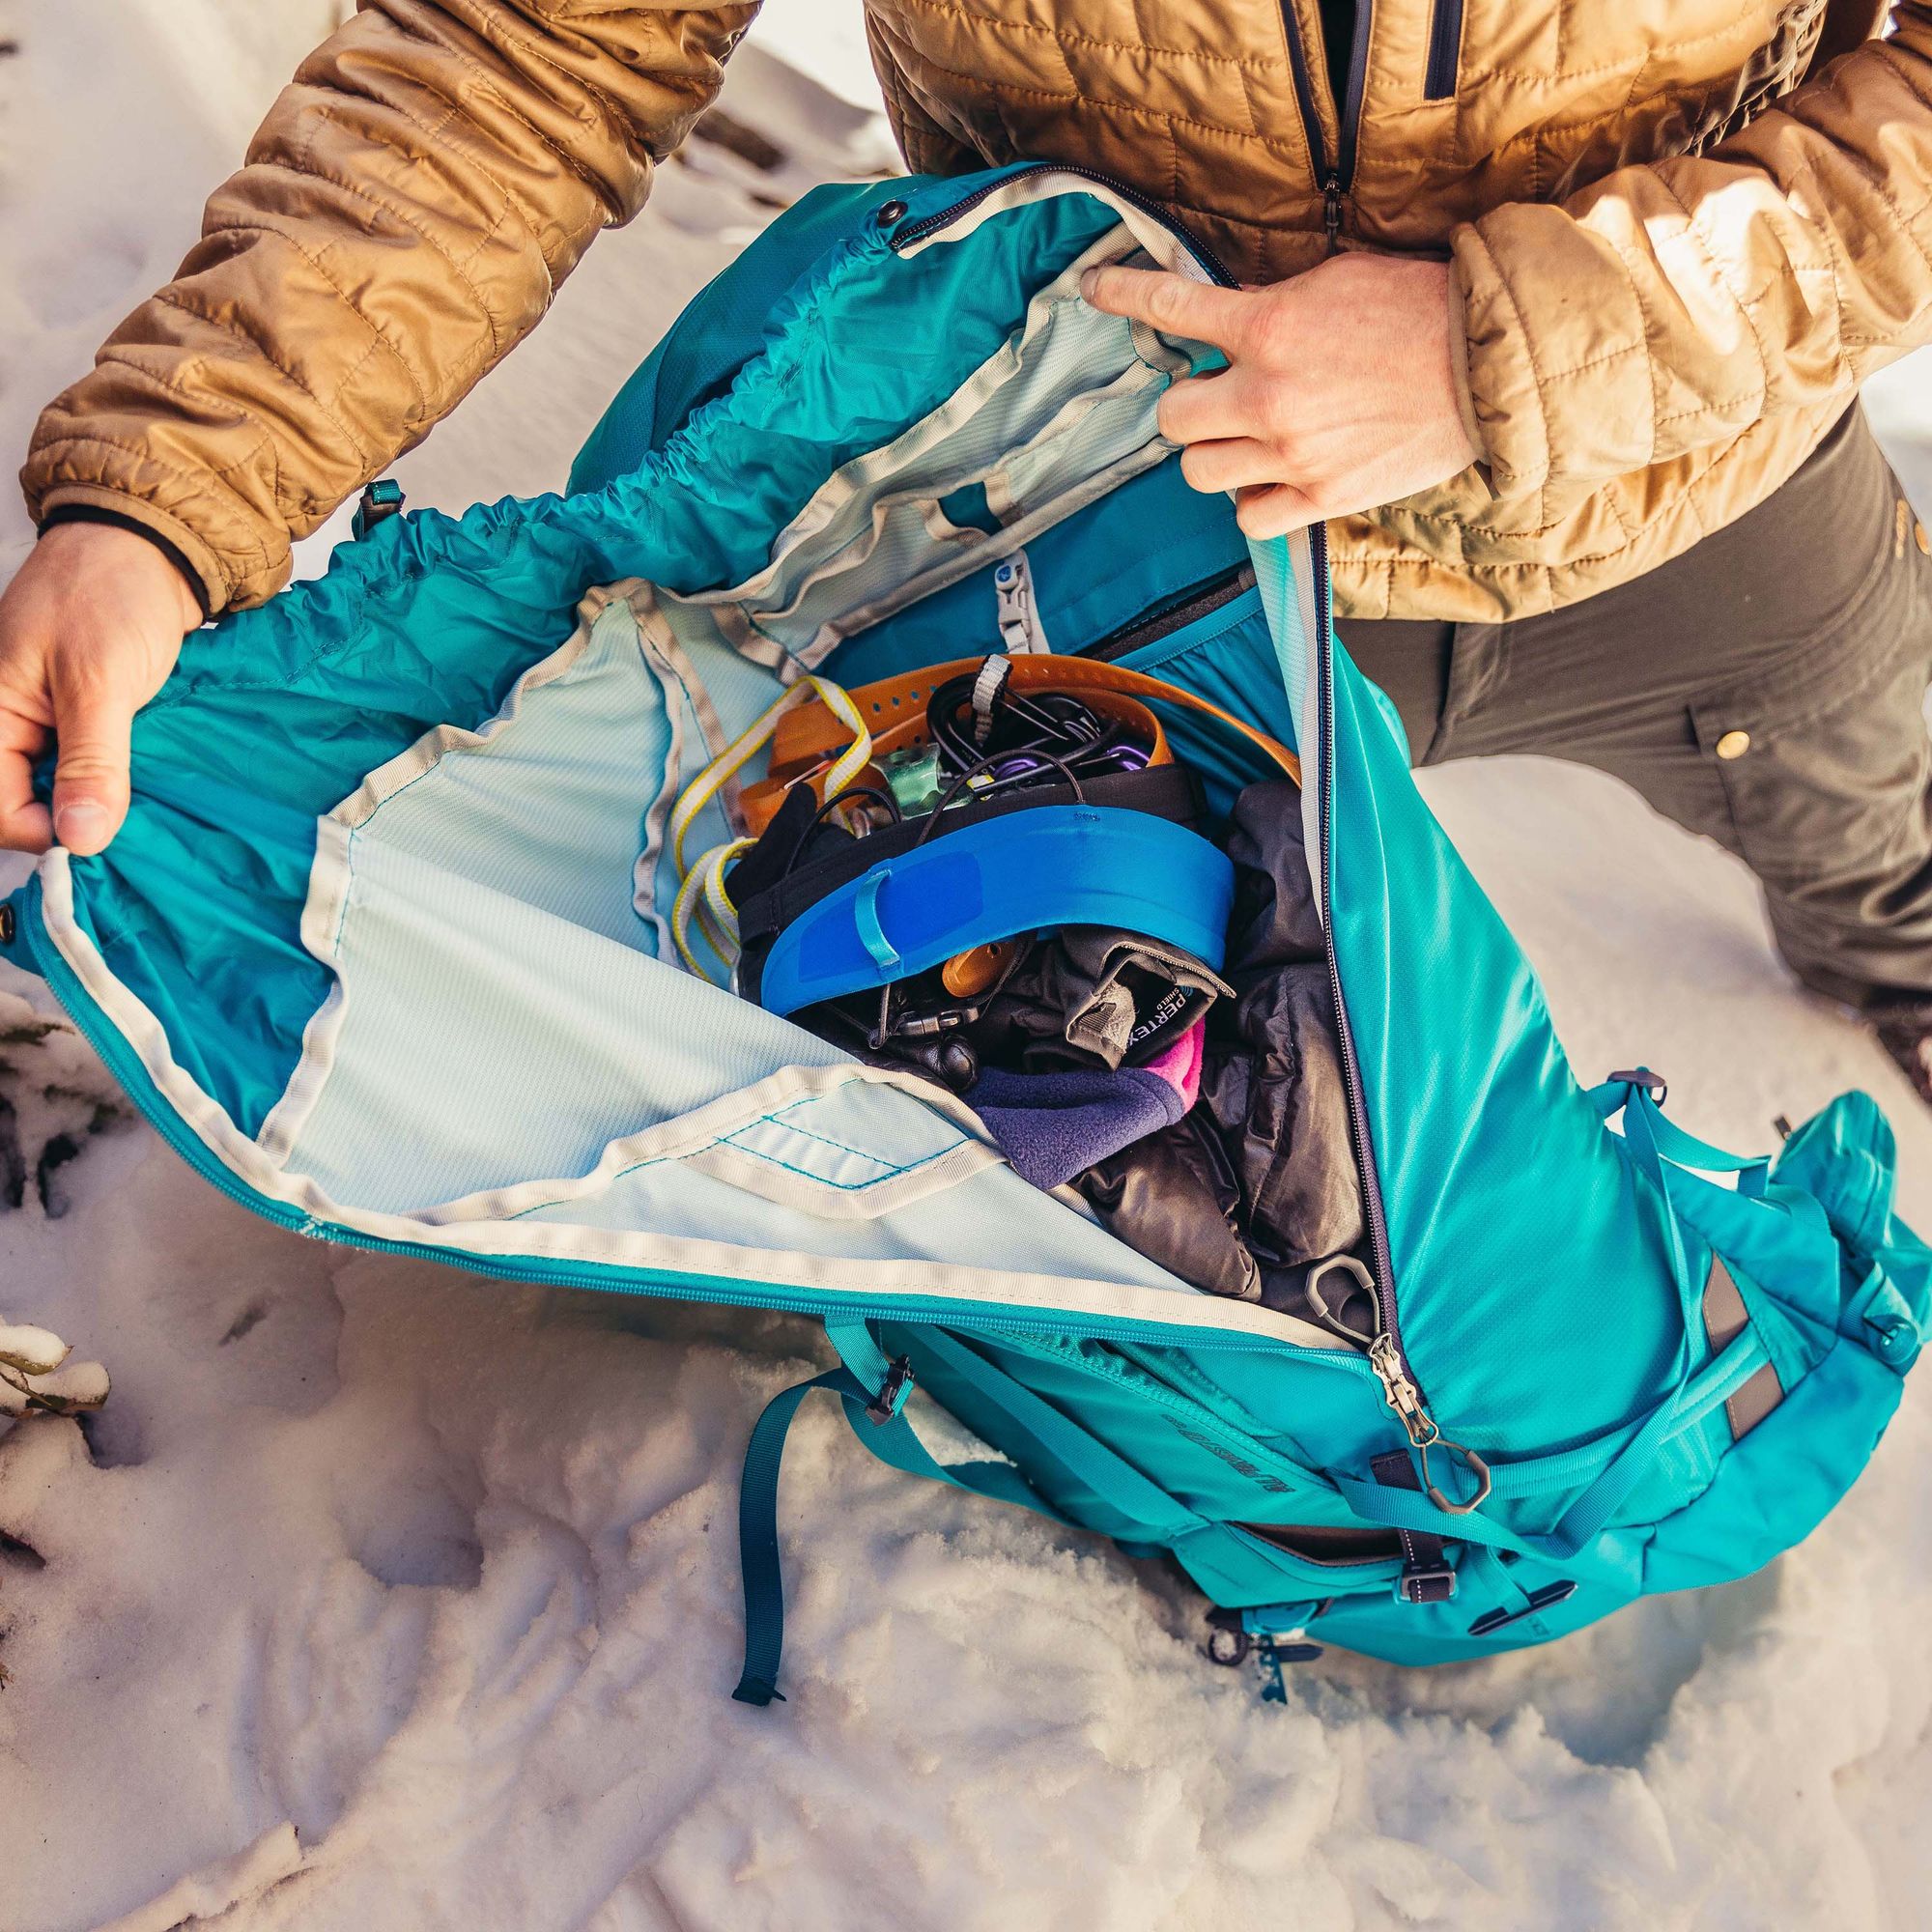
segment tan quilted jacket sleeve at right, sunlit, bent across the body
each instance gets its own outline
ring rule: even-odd
[[[1503,491],[1849,398],[1932,340],[1932,0],[1708,155],[1495,209],[1453,245]]]

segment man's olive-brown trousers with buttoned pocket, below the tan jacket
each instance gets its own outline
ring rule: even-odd
[[[1513,624],[1343,620],[1414,757],[1594,765],[1764,883],[1806,985],[1932,995],[1932,558],[1855,406],[1650,576]]]

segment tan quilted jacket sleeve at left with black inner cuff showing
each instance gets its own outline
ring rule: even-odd
[[[129,516],[213,609],[421,440],[709,104],[757,0],[361,0],[180,274],[35,429],[21,481]]]

